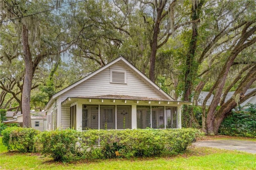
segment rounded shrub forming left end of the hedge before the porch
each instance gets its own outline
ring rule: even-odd
[[[69,162],[78,158],[80,136],[81,132],[73,129],[44,131],[35,138],[36,147],[55,161]]]

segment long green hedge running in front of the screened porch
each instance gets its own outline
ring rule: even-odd
[[[148,157],[186,151],[200,135],[196,129],[176,130],[88,130],[72,129],[42,132],[36,137],[37,149],[55,161],[79,158],[104,159],[121,156]],[[100,139],[100,140],[99,140]]]

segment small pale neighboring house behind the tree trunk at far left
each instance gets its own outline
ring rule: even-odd
[[[12,116],[11,116],[12,115]],[[46,115],[45,112],[30,111],[31,127],[40,131],[46,130]],[[23,125],[23,115],[21,112],[8,111],[6,114],[6,121],[3,123],[19,123]]]

